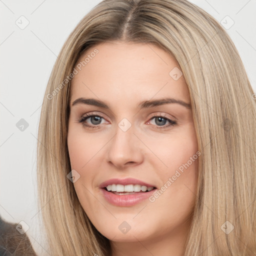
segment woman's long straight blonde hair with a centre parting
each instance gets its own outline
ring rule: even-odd
[[[109,240],[92,225],[66,177],[71,170],[66,137],[70,74],[87,48],[114,40],[165,49],[187,82],[201,156],[185,255],[251,255],[256,248],[253,91],[227,33],[186,0],[104,0],[64,43],[38,131],[38,192],[51,255],[111,254]]]

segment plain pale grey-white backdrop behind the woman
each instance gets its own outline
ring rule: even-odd
[[[256,1],[191,1],[220,23],[225,21],[255,92]],[[36,142],[43,94],[64,41],[98,2],[0,0],[0,215],[27,223],[26,233],[38,255],[49,255],[36,206]]]

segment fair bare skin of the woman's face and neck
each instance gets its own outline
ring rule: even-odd
[[[183,255],[195,202],[198,159],[153,202],[112,205],[99,188],[110,178],[133,177],[160,189],[196,153],[191,108],[178,103],[137,107],[143,100],[167,96],[190,103],[183,75],[177,80],[169,75],[179,65],[156,45],[120,41],[92,46],[78,62],[95,48],[99,52],[71,82],[67,144],[71,168],[80,175],[73,183],[79,202],[96,229],[110,240],[112,256]],[[79,97],[100,99],[110,109],[72,105]],[[88,128],[78,122],[85,113],[103,118],[95,125],[98,122],[88,117],[84,122],[97,126]],[[157,122],[153,115],[165,117]],[[125,132],[118,127],[123,118],[131,124]],[[176,124],[168,126],[164,118]],[[123,221],[130,225],[126,233],[118,228]]]

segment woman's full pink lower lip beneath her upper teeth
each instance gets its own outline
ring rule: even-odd
[[[114,194],[101,188],[104,198],[111,204],[117,206],[131,206],[147,199],[155,192],[156,188],[148,192],[136,192],[134,194]]]

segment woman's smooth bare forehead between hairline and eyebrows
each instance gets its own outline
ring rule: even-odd
[[[170,74],[173,68],[180,69],[178,62],[154,44],[100,43],[88,48],[75,68],[78,72],[71,81],[72,99],[111,97],[131,103],[130,100],[173,96],[190,101],[183,75],[176,80]]]

